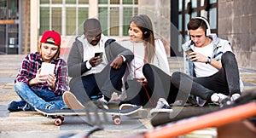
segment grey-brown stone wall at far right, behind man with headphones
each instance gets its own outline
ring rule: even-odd
[[[256,70],[256,1],[218,0],[218,37],[228,39],[238,66]]]

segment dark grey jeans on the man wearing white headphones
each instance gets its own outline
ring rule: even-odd
[[[230,51],[225,52],[221,63],[222,68],[209,77],[193,78],[183,72],[174,72],[172,83],[181,92],[190,92],[203,100],[210,100],[213,93],[241,94],[235,55]]]

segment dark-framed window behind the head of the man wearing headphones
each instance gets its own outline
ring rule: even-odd
[[[196,16],[204,16],[209,20],[211,32],[218,32],[218,7],[217,0],[178,0],[177,12],[178,23],[177,29],[183,37],[178,37],[177,53],[182,54],[181,45],[184,41],[189,40],[187,24],[191,18]],[[184,40],[183,40],[184,39]],[[177,54],[178,55],[178,54]]]

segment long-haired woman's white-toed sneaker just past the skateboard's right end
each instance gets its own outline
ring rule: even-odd
[[[160,98],[155,108],[150,110],[150,114],[153,115],[156,112],[172,112],[172,108],[164,98]]]

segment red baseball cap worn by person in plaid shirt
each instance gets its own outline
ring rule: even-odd
[[[53,38],[54,41],[47,40],[49,37]],[[46,31],[46,32],[44,32],[40,42],[54,44],[54,45],[60,47],[61,46],[61,35],[55,31]]]

